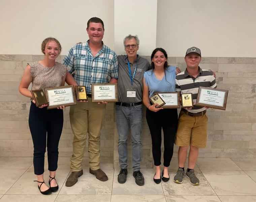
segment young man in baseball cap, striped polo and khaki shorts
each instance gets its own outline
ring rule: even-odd
[[[185,176],[185,162],[187,159],[187,150],[189,150],[188,169],[186,176],[193,185],[199,184],[194,167],[198,157],[199,148],[205,148],[207,141],[207,121],[206,108],[196,106],[198,89],[202,87],[216,88],[216,81],[213,72],[201,69],[201,50],[197,47],[187,49],[185,55],[187,68],[185,71],[176,75],[176,91],[183,93],[192,93],[193,108],[182,108],[179,115],[178,129],[175,137],[175,144],[180,146],[178,152],[179,169],[174,176],[173,181],[183,182]]]

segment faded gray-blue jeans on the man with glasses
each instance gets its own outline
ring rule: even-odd
[[[140,170],[141,162],[141,141],[142,131],[142,104],[125,107],[116,105],[116,122],[118,131],[118,154],[121,169],[127,169],[127,138],[129,124],[132,138],[132,168],[133,171]]]

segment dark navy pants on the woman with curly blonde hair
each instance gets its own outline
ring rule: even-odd
[[[34,173],[44,172],[44,153],[47,143],[48,170],[56,171],[58,167],[58,146],[63,128],[63,110],[38,108],[31,102],[29,111],[29,128],[34,144]],[[47,133],[47,142],[46,142]]]

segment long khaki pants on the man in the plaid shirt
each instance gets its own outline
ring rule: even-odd
[[[83,157],[88,132],[89,165],[92,170],[100,168],[100,130],[106,105],[92,102],[77,102],[70,106],[69,116],[73,139],[73,155],[70,158],[71,171],[83,169]]]

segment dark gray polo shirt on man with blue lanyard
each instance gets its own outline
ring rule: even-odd
[[[130,63],[131,74],[137,69],[132,81],[132,88],[136,91],[135,98],[127,98],[127,90],[131,89],[131,80],[128,68],[128,56],[118,56],[118,101],[136,103],[142,101],[143,74],[150,68],[149,61],[137,55],[136,61]]]

